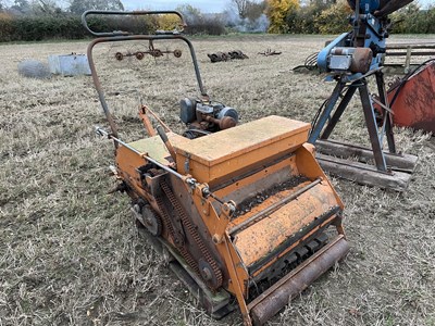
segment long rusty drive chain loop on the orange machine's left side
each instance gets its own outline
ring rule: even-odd
[[[171,204],[175,209],[175,213],[182,221],[183,227],[185,231],[188,233],[190,238],[195,241],[195,244],[199,248],[201,253],[201,260],[206,263],[202,263],[201,266],[199,264],[199,260],[195,260],[191,253],[188,251],[186,244],[182,239],[179,239],[179,234],[176,234],[174,229],[174,225],[172,223],[171,216],[167,214],[167,211],[164,208],[163,199],[161,197],[157,197],[157,203],[159,205],[160,211],[162,212],[162,220],[165,224],[169,234],[174,239],[175,247],[185,259],[187,264],[198,274],[200,275],[206,284],[212,289],[215,290],[222,286],[223,277],[222,272],[217,266],[216,261],[210,254],[209,249],[204,244],[203,240],[198,234],[196,226],[191,223],[190,218],[187,216],[185,210],[181,205],[179,201],[176,199],[174,192],[171,187],[167,185],[166,180],[163,178],[160,180],[160,186],[164,192],[164,195],[170,200]],[[203,271],[203,268],[208,271]],[[210,274],[211,273],[211,274]],[[207,275],[207,276],[204,276]]]

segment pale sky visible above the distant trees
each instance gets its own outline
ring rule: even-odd
[[[422,7],[435,4],[435,0],[415,0]],[[190,4],[198,8],[203,13],[223,12],[231,5],[231,0],[210,1],[210,0],[122,0],[126,10],[174,10],[179,4]]]

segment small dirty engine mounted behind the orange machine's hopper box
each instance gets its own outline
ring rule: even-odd
[[[237,111],[220,102],[185,98],[179,105],[179,118],[188,128],[183,136],[189,139],[228,129],[238,123]]]

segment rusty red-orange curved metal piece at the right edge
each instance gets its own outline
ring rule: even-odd
[[[396,92],[397,96],[396,96]],[[393,123],[435,134],[435,61],[388,91]]]

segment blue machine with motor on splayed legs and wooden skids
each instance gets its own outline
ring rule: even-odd
[[[325,170],[360,184],[397,191],[407,188],[417,156],[397,153],[393,133],[394,113],[388,101],[382,68],[385,39],[388,36],[387,15],[411,1],[348,0],[355,10],[351,18],[353,30],[341,34],[318,55],[319,68],[327,73],[326,80],[336,82],[336,86],[332,96],[314,116],[309,137],[309,142],[320,145],[318,159]],[[377,86],[377,99],[371,96],[369,90],[369,78],[373,77]],[[357,90],[371,149],[328,141],[330,135]],[[376,121],[375,103],[383,109],[380,121]],[[387,151],[384,151],[384,143],[388,147]],[[370,155],[366,154],[369,152]],[[349,158],[357,158],[357,162],[348,160]],[[366,164],[368,162],[374,164]]]

